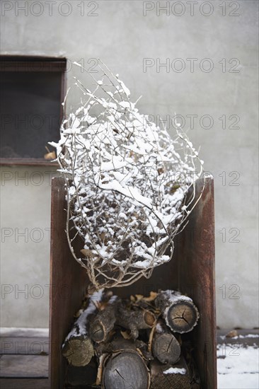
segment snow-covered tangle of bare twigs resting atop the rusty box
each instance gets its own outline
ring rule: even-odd
[[[69,246],[97,290],[149,278],[171,260],[173,238],[195,206],[194,192],[188,201],[186,194],[202,174],[185,134],[172,139],[150,122],[118,76],[98,66],[93,91],[76,80],[86,101],[51,143],[67,185]]]

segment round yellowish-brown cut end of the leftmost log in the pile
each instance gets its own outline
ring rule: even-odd
[[[62,354],[73,366],[86,366],[94,355],[91,339],[82,337],[69,339],[62,349]]]

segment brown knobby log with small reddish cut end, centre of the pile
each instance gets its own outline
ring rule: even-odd
[[[150,310],[129,310],[122,304],[117,308],[116,324],[131,331],[132,339],[137,339],[139,330],[151,328],[156,316]]]

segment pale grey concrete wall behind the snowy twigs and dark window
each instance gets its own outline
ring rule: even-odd
[[[4,11],[7,3],[13,8]],[[46,1],[32,1],[28,16],[15,3],[26,2],[2,2],[2,54],[61,56],[84,61],[87,68],[94,64],[89,59],[100,57],[134,98],[143,96],[141,112],[168,120],[171,134],[175,112],[184,117],[192,143],[201,146],[205,170],[214,175],[218,325],[257,326],[258,1],[171,1],[160,15],[156,1],[55,1],[52,10]],[[154,9],[144,16],[146,8]],[[159,66],[166,61],[169,69]],[[88,82],[72,66],[68,85],[75,75]],[[193,126],[190,115],[197,115]],[[2,294],[1,325],[47,327],[49,240],[44,235],[39,243],[16,243],[15,228],[49,228],[48,175],[39,168],[2,170],[13,178],[1,185],[1,222],[14,232],[2,243],[2,282],[13,291]],[[42,171],[43,184],[16,186],[15,172],[25,170]],[[28,298],[16,293],[16,284],[28,284]],[[44,295],[37,299],[40,290]]]

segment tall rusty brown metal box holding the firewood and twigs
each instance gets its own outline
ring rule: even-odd
[[[202,183],[196,183],[196,195]],[[52,180],[51,256],[50,256],[50,385],[64,387],[66,361],[61,353],[64,337],[71,328],[74,313],[86,294],[85,270],[74,260],[64,229],[64,182]],[[157,267],[150,279],[132,286],[116,288],[119,296],[148,294],[151,290],[178,289],[188,294],[200,310],[200,320],[190,333],[195,362],[203,389],[217,388],[216,313],[214,286],[214,185],[206,178],[205,189],[189,216],[188,226],[175,238],[173,259]]]

